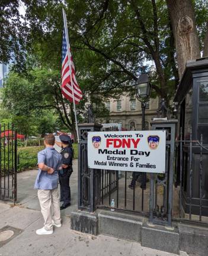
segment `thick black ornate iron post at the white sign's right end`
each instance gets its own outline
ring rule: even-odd
[[[177,120],[158,120],[152,122],[152,130],[164,130],[166,132],[166,154],[165,175],[161,178],[158,174],[151,174],[151,188],[149,201],[149,221],[159,225],[172,225],[172,195],[174,180],[174,148],[175,148],[175,126]],[[155,184],[156,183],[156,184]],[[159,207],[157,189],[158,185],[164,188],[164,202]]]

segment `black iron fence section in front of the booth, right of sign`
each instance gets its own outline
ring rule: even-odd
[[[181,129],[182,130],[182,129]],[[208,181],[207,162],[208,148],[203,144],[203,135],[199,140],[192,139],[192,132],[188,139],[176,142],[176,180],[179,190],[179,215],[180,219],[205,221],[208,219]]]

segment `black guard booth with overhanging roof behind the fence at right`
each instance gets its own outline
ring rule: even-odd
[[[199,143],[190,140],[203,139],[208,148],[208,59],[188,62],[183,78],[174,98],[178,102],[178,139],[184,140],[182,159],[177,158],[177,173],[182,165],[182,207],[184,213],[200,214],[200,174],[201,213],[208,216],[208,151],[202,149],[202,171],[200,171]],[[192,144],[192,146],[191,146]],[[191,155],[191,157],[190,157]],[[191,194],[191,200],[190,200]],[[190,207],[191,203],[191,207]]]

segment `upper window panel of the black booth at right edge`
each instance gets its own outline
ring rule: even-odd
[[[203,143],[208,144],[208,81],[199,82],[198,139],[203,135]]]

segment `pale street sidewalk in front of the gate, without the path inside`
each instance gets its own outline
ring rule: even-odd
[[[53,235],[36,235],[43,226],[41,213],[23,206],[10,207],[0,203],[0,232],[9,225],[21,229],[13,239],[2,245],[0,256],[176,256],[168,252],[141,247],[136,242],[123,241],[110,236],[97,237],[71,231],[69,217],[62,217],[62,228],[55,228]],[[181,256],[186,256],[181,252]]]

